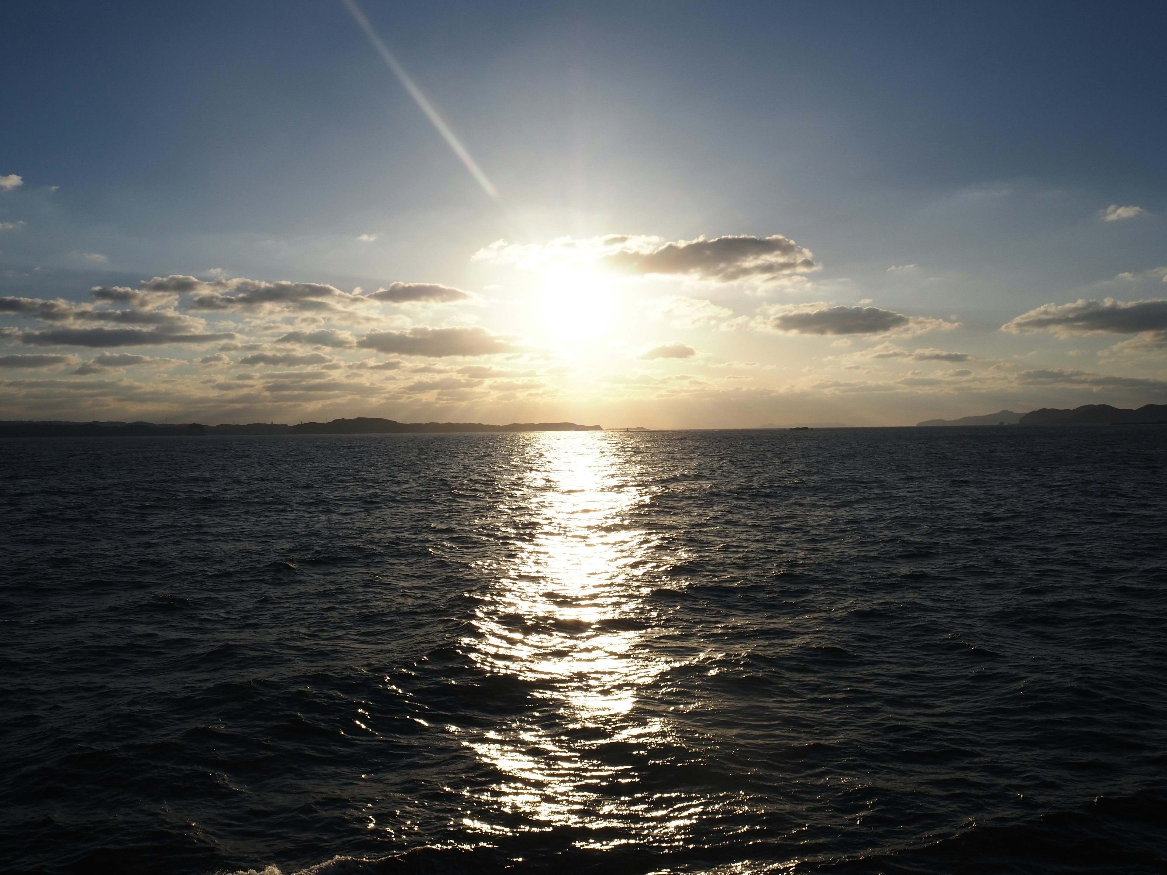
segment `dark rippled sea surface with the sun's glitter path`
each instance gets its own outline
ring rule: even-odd
[[[1167,870],[1161,427],[8,440],[0,510],[6,872]]]

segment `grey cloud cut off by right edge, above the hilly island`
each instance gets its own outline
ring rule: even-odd
[[[1051,331],[1058,337],[1098,334],[1133,334],[1137,343],[1127,349],[1167,346],[1167,301],[1104,301],[1081,299],[1074,303],[1047,303],[1022,313],[1001,326],[1002,331],[1022,334]]]

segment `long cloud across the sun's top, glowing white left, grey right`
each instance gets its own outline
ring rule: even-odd
[[[715,282],[771,280],[819,270],[813,253],[782,235],[715,237],[666,242],[659,237],[608,235],[576,240],[560,237],[544,245],[496,240],[474,254],[490,264],[524,268],[586,265],[634,275],[685,275]]]

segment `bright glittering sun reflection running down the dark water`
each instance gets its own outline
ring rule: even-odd
[[[649,494],[605,435],[532,435],[530,450],[506,510],[517,530],[533,534],[496,569],[474,617],[477,634],[463,645],[481,668],[523,681],[543,707],[464,738],[502,776],[471,793],[471,808],[509,817],[463,822],[485,834],[622,827],[581,835],[576,845],[589,847],[676,830],[692,822],[693,800],[652,798],[635,786],[627,757],[613,762],[601,751],[613,743],[643,749],[670,732],[651,709],[637,708],[670,667],[642,640],[656,537],[634,524],[631,511]]]

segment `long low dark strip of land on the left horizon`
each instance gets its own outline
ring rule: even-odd
[[[575,422],[511,422],[490,426],[482,422],[397,422],[392,419],[357,416],[329,422],[251,422],[249,425],[204,426],[156,422],[0,422],[0,438],[140,438],[148,435],[247,435],[247,434],[431,434],[448,432],[602,432],[600,426]]]

